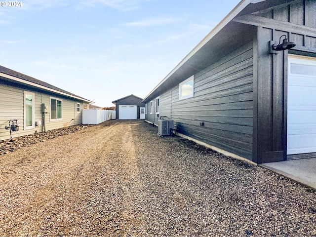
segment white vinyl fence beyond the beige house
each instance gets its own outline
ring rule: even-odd
[[[115,110],[82,110],[83,124],[99,124],[109,119],[115,118]]]

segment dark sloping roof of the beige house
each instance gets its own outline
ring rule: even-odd
[[[29,81],[29,82],[35,83],[35,84],[41,86],[41,88],[42,88],[42,86],[44,86],[44,87],[46,87],[46,88],[55,90],[55,91],[57,91],[57,92],[61,92],[62,94],[67,94],[67,95],[69,95],[69,96],[71,96],[71,97],[77,97],[77,98],[82,99],[83,101],[86,101],[86,102],[89,102],[89,103],[94,103],[94,102],[92,102],[92,101],[90,101],[90,100],[87,100],[87,99],[82,98],[81,96],[75,95],[75,94],[73,94],[73,93],[71,93],[71,92],[69,92],[69,91],[66,91],[66,90],[63,90],[63,89],[61,89],[61,88],[58,88],[58,87],[56,87],[56,86],[54,86],[54,85],[51,85],[51,84],[49,84],[49,83],[47,83],[47,82],[44,82],[44,81],[39,80],[39,79],[32,78],[32,77],[30,77],[30,76],[27,76],[27,75],[24,75],[24,74],[22,74],[22,73],[16,72],[16,71],[14,71],[14,70],[5,68],[5,67],[3,67],[3,66],[0,66],[0,73],[3,73],[3,74],[6,74],[6,75],[15,77],[15,78],[19,78],[19,79],[22,79],[22,80],[25,80],[25,81]]]

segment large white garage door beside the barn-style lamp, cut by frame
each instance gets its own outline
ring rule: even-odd
[[[316,152],[316,59],[288,57],[287,155]]]

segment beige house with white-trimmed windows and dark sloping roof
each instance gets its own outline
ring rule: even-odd
[[[83,103],[94,103],[44,81],[0,66],[0,140],[82,123]]]

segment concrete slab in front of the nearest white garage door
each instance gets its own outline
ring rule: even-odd
[[[271,162],[260,166],[316,190],[316,158]]]

